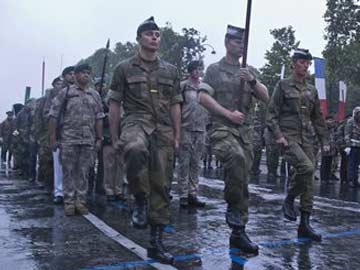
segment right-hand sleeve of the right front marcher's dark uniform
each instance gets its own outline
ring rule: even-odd
[[[314,126],[315,132],[317,136],[320,138],[323,145],[329,144],[329,131],[326,127],[325,120],[323,118],[321,109],[320,109],[320,100],[318,96],[318,92],[315,89],[315,104],[314,108],[311,112],[311,122]]]

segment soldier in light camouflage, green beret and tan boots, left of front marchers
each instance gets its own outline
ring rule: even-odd
[[[86,193],[90,166],[100,148],[104,112],[99,94],[89,87],[91,68],[75,67],[75,84],[62,89],[54,98],[49,113],[50,147],[56,148],[58,119],[60,161],[63,170],[64,209],[67,216],[87,214]]]

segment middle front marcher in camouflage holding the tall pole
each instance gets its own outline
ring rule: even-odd
[[[253,160],[254,97],[267,103],[267,88],[256,79],[253,68],[241,68],[244,29],[229,25],[225,35],[226,56],[208,67],[204,82],[214,91],[200,93],[200,102],[212,112],[211,144],[224,164],[226,221],[232,229],[230,246],[258,253],[245,233],[248,222],[248,181]],[[244,80],[241,89],[240,81]]]

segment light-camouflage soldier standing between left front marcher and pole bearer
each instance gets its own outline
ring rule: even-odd
[[[204,152],[208,112],[199,104],[200,89],[210,88],[200,81],[203,64],[192,61],[188,65],[189,78],[181,82],[183,104],[181,106],[181,140],[179,149],[179,197],[180,207],[204,207],[198,197],[199,162]]]

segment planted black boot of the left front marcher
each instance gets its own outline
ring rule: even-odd
[[[150,247],[147,249],[147,256],[161,263],[173,264],[174,256],[166,250],[162,243],[163,229],[163,225],[151,225]]]

